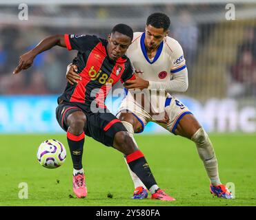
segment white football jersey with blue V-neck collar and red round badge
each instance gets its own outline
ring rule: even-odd
[[[148,81],[167,82],[172,80],[172,74],[186,68],[183,50],[175,39],[166,36],[152,59],[147,56],[144,39],[144,32],[135,32],[132,44],[126,52],[126,56],[130,58],[132,66],[141,78]],[[152,90],[150,95],[145,94],[145,96],[145,100],[151,103],[152,110],[160,112],[164,110],[166,96],[169,94]],[[132,98],[130,92],[126,98]]]

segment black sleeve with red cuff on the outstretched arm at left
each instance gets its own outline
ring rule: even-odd
[[[68,50],[78,50],[79,52],[84,52],[88,50],[91,45],[99,42],[97,36],[91,36],[86,34],[65,34],[64,39]]]

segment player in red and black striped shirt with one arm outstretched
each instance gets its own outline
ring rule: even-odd
[[[89,35],[50,36],[20,56],[19,65],[14,69],[14,74],[22,69],[28,69],[37,54],[56,45],[78,51],[73,64],[77,65],[81,80],[75,85],[68,83],[58,98],[59,106],[56,110],[61,128],[67,131],[74,167],[73,190],[77,197],[87,195],[81,164],[85,134],[121,151],[126,156],[130,169],[137,174],[148,190],[158,189],[143,153],[132,141],[121,121],[106,111],[104,105],[108,85],[114,85],[118,80],[125,82],[135,78],[130,61],[124,55],[132,42],[132,36],[132,29],[124,24],[116,25],[108,40]]]

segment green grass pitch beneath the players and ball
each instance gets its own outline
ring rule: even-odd
[[[37,147],[46,139],[63,142],[66,162],[56,169],[37,162]],[[256,136],[210,135],[222,183],[235,184],[235,199],[212,197],[195,144],[174,135],[136,135],[158,185],[177,201],[130,199],[133,184],[123,156],[86,137],[83,167],[88,196],[72,192],[72,164],[66,135],[0,135],[0,206],[256,206]],[[19,199],[21,182],[28,199]],[[108,197],[108,194],[112,198]]]

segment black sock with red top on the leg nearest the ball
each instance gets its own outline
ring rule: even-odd
[[[83,156],[83,144],[84,144],[84,132],[80,135],[73,135],[69,131],[67,132],[68,146],[70,148],[70,155],[73,162],[73,167],[76,170],[83,168],[82,156]]]

